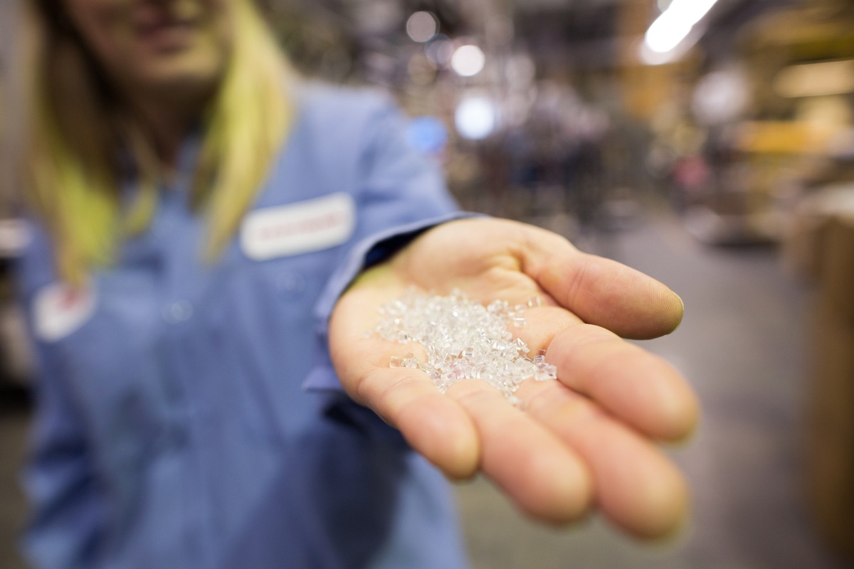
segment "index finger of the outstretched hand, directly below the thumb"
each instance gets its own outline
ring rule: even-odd
[[[699,404],[676,369],[660,357],[589,324],[559,331],[546,353],[558,377],[641,433],[665,441],[686,438]]]

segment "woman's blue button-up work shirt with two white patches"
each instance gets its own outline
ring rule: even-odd
[[[38,361],[26,551],[50,569],[465,566],[447,483],[350,401],[325,325],[366,263],[455,215],[394,104],[303,87],[215,264],[196,161],[84,293],[35,230],[20,262]]]

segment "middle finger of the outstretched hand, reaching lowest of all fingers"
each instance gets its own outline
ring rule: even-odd
[[[596,505],[609,520],[637,537],[666,537],[679,529],[686,485],[652,444],[557,382],[525,382],[518,396],[529,415],[587,464]]]

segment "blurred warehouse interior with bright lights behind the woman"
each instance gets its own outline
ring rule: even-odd
[[[459,485],[472,563],[854,566],[854,3],[266,0],[301,73],[390,90],[467,209],[540,224],[685,300],[646,345],[705,418],[669,452],[694,514],[654,547],[535,525]],[[15,3],[0,8],[0,183],[13,177]],[[0,568],[26,508],[29,358],[0,220]],[[631,467],[631,465],[627,465]]]

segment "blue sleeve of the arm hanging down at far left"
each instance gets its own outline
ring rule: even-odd
[[[46,238],[33,232],[17,271],[30,330],[33,292],[53,279],[50,258]],[[62,378],[60,362],[32,334],[31,343],[37,412],[24,479],[32,510],[24,549],[36,567],[95,566],[106,508],[85,438],[85,422]]]

